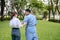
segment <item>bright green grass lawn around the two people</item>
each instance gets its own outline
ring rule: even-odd
[[[60,24],[48,21],[37,21],[39,40],[60,40]],[[9,21],[0,21],[0,40],[11,40]],[[25,28],[21,28],[21,40],[25,40]]]

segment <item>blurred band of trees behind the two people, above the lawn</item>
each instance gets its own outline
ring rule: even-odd
[[[23,19],[23,10],[29,8],[38,20],[60,22],[60,0],[0,0],[0,20],[9,19],[16,11]]]

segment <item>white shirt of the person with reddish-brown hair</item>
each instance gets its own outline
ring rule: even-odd
[[[11,20],[10,20],[10,26],[12,28],[21,28],[21,22],[18,18],[16,17],[13,17]]]

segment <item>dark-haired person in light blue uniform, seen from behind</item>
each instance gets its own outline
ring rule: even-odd
[[[36,35],[36,17],[29,9],[25,10],[25,18],[22,25],[26,25],[26,40],[38,40]]]

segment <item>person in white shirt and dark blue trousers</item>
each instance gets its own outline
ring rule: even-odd
[[[20,40],[20,30],[19,28],[21,28],[21,22],[20,20],[17,18],[17,13],[16,12],[12,12],[12,19],[10,20],[10,26],[12,28],[12,40]]]

